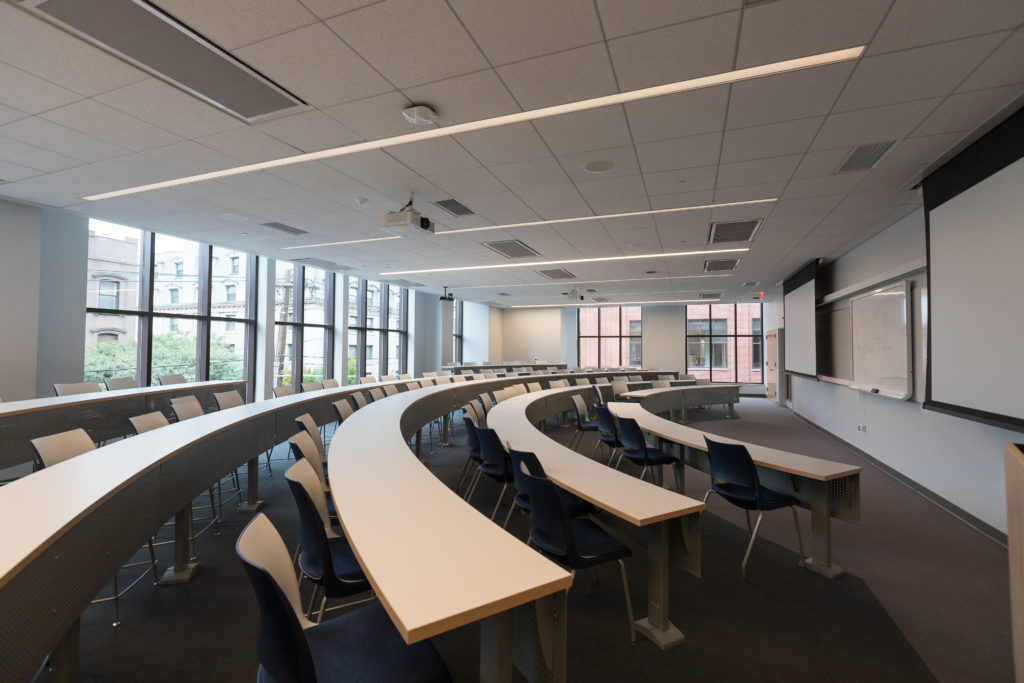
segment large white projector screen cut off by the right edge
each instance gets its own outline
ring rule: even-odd
[[[930,400],[1024,424],[1024,159],[929,212],[928,267]]]

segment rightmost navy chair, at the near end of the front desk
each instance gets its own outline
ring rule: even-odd
[[[707,436],[708,461],[711,464],[711,488],[705,494],[705,503],[712,492],[718,494],[736,507],[746,512],[746,530],[751,542],[746,545],[743,562],[739,565],[739,575],[746,578],[746,560],[758,538],[761,519],[769,510],[788,507],[793,510],[793,523],[797,527],[797,545],[800,547],[800,562],[804,562],[804,541],[800,536],[800,519],[797,517],[799,501],[793,496],[779,494],[761,485],[758,468],[754,465],[746,446],[741,443],[722,443]],[[758,511],[758,520],[751,529],[751,510]]]

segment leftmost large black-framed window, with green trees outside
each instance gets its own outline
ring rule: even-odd
[[[85,379],[251,377],[255,264],[233,250],[90,221]]]

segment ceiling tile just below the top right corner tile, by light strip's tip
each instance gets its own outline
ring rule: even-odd
[[[1006,38],[978,36],[865,57],[836,102],[837,112],[894,104],[952,92]]]

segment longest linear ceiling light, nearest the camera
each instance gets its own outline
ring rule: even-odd
[[[689,90],[699,90],[701,88],[710,88],[716,85],[736,83],[737,81],[746,81],[755,78],[763,78],[765,76],[774,76],[776,74],[782,74],[791,71],[823,67],[825,65],[856,59],[861,55],[861,53],[863,53],[864,47],[864,45],[860,45],[858,47],[850,47],[845,50],[821,52],[820,54],[812,54],[806,57],[775,61],[773,63],[761,65],[760,67],[751,67],[749,69],[725,72],[724,74],[701,76],[700,78],[692,78],[686,81],[656,85],[650,88],[642,88],[640,90],[630,90],[629,92],[621,92],[613,95],[605,95],[603,97],[593,97],[591,99],[582,99],[577,102],[566,102],[565,104],[545,106],[538,110],[529,110],[527,112],[506,114],[505,116],[494,117],[490,119],[470,121],[467,123],[444,126],[443,128],[431,128],[428,130],[417,131],[415,133],[407,133],[404,135],[396,135],[394,137],[385,137],[379,140],[355,142],[353,144],[333,147],[331,150],[322,150],[321,152],[311,152],[304,155],[295,155],[294,157],[273,159],[270,161],[260,162],[258,164],[247,164],[246,166],[237,166],[234,168],[226,168],[220,171],[212,171],[210,173],[200,173],[198,175],[189,175],[183,178],[164,180],[163,182],[154,182],[147,185],[136,185],[135,187],[127,187],[125,189],[118,189],[112,193],[90,195],[89,197],[84,197],[82,199],[90,202],[94,202],[96,200],[108,200],[115,197],[136,195],[138,193],[146,193],[154,189],[176,187],[177,185],[185,185],[191,182],[215,180],[217,178],[223,178],[230,175],[252,173],[253,171],[265,171],[270,168],[279,168],[281,166],[289,166],[291,164],[301,164],[308,161],[331,159],[359,152],[368,152],[370,150],[382,150],[384,147],[393,147],[399,144],[408,144],[410,142],[421,142],[423,140],[430,140],[437,137],[447,137],[451,135],[458,135],[460,133],[468,133],[473,130],[497,128],[498,126],[508,126],[514,123],[536,121],[537,119],[546,119],[548,117],[560,116],[563,114],[585,112],[587,110],[610,106],[611,104],[632,102],[638,99],[648,99],[650,97],[660,97],[662,95],[671,95]]]

